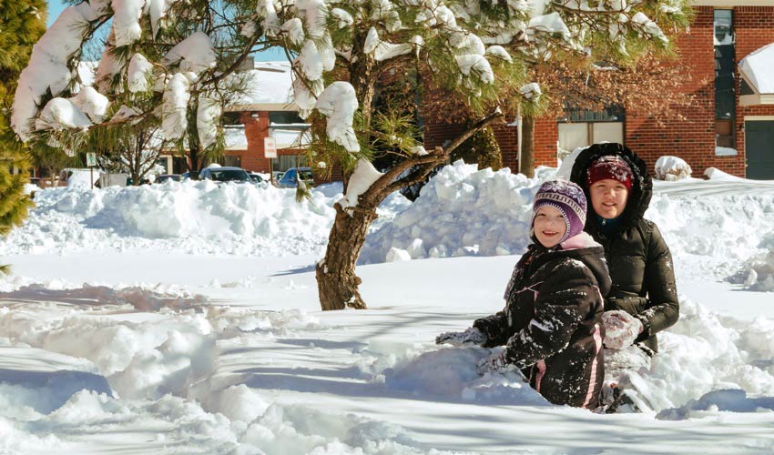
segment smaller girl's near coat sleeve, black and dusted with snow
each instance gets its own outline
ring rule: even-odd
[[[505,359],[526,368],[565,349],[596,299],[591,272],[579,261],[551,273],[535,300],[535,316],[508,339]]]

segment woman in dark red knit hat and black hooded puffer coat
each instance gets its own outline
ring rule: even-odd
[[[613,280],[605,311],[617,330],[609,330],[606,346],[637,343],[657,352],[656,334],[677,322],[679,303],[672,255],[656,224],[644,218],[653,188],[645,162],[621,144],[595,144],[575,158],[570,180],[591,200],[586,232],[605,248]]]

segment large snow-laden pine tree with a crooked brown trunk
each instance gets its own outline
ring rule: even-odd
[[[74,6],[69,23],[55,24],[52,32],[63,42],[83,43],[112,18],[99,93],[71,96],[73,81],[56,75],[67,74],[82,51],[46,43],[52,47],[41,47],[46,58],[34,54],[29,73],[22,74],[15,131],[25,140],[53,138],[72,147],[78,130],[126,127],[160,113],[167,139],[182,142],[188,135],[193,152],[212,143],[207,138],[219,117],[212,107],[219,101],[211,100],[222,101],[221,87],[242,61],[266,46],[285,49],[293,62],[295,104],[312,125],[310,162],[323,172],[338,165],[344,174],[346,197],[334,206],[328,248],[316,268],[323,309],[366,308],[355,262],[384,197],[422,181],[465,140],[500,121],[500,106],[519,103],[536,112],[539,90],[525,84],[535,62],[589,59],[598,50],[608,57],[667,49],[659,25],[685,23],[687,11],[684,0],[121,3],[115,13],[107,0]],[[432,81],[442,87],[476,120],[446,147],[425,150],[410,116],[374,113],[377,81],[391,67],[410,70],[419,86]],[[147,94],[156,107],[133,108],[135,93]],[[117,112],[124,115],[107,116],[108,102],[122,106]],[[379,173],[372,159],[385,149],[400,159]]]

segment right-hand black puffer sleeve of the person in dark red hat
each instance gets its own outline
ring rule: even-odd
[[[657,332],[671,327],[677,322],[680,312],[672,254],[656,224],[652,222],[648,224],[651,227],[651,237],[647,245],[645,266],[647,308],[637,315],[644,326],[637,341],[648,339]]]

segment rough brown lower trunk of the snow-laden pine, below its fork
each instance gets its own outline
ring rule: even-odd
[[[362,280],[355,275],[355,262],[365,243],[368,227],[377,217],[375,207],[362,207],[361,204],[351,211],[351,217],[339,204],[333,207],[336,208],[336,219],[331,227],[328,248],[315,270],[320,305],[323,311],[366,309],[358,291]]]

